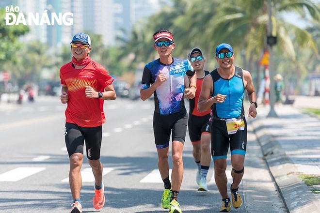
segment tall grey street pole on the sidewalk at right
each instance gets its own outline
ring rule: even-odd
[[[268,39],[272,37],[272,14],[271,14],[271,0],[268,0],[268,16],[269,16],[269,26],[268,26]],[[270,111],[267,117],[278,117],[277,113],[274,111],[275,104],[275,92],[274,92],[274,66],[272,60],[272,42],[267,39],[268,49],[269,49],[269,71],[270,71]]]

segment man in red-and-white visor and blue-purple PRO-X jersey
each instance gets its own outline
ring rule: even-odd
[[[158,152],[158,168],[164,183],[161,206],[169,213],[181,213],[177,196],[183,177],[182,149],[187,132],[187,110],[183,96],[192,99],[196,91],[196,74],[187,59],[172,57],[176,44],[173,34],[160,29],[153,34],[154,48],[160,58],[147,63],[141,81],[140,97],[149,98],[154,93],[155,112],[153,131]],[[184,88],[184,76],[190,81],[190,88]],[[150,86],[151,85],[151,86]],[[186,94],[184,94],[186,93]],[[169,180],[169,140],[172,131],[172,185]]]

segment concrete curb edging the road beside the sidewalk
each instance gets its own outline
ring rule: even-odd
[[[309,190],[291,159],[280,152],[281,145],[263,122],[251,122],[269,171],[289,213],[320,213],[318,198]]]

